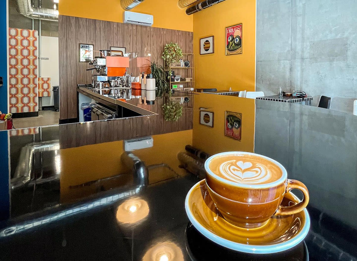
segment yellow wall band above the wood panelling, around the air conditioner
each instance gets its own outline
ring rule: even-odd
[[[132,9],[133,12],[154,15],[154,27],[193,31],[193,17],[177,5],[178,0],[146,0]],[[124,10],[120,0],[60,0],[60,15],[123,22]]]

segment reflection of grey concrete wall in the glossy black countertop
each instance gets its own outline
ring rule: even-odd
[[[257,100],[255,124],[254,152],[277,160],[286,168],[289,179],[307,186],[308,208],[356,229],[351,206],[357,198],[357,117],[300,104]]]

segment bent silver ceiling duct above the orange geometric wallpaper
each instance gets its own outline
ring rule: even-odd
[[[16,0],[16,10],[31,19],[58,21],[58,10],[32,7],[31,0]]]

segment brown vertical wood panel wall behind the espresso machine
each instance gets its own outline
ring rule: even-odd
[[[127,52],[139,55],[151,53],[151,61],[163,65],[164,46],[177,42],[183,52],[193,52],[193,33],[140,25],[59,16],[59,76],[60,119],[77,118],[77,84],[91,83],[88,63],[79,62],[79,44],[93,44],[94,50],[110,46],[126,47]],[[131,62],[128,73],[139,71]],[[171,128],[171,127],[170,127]]]

